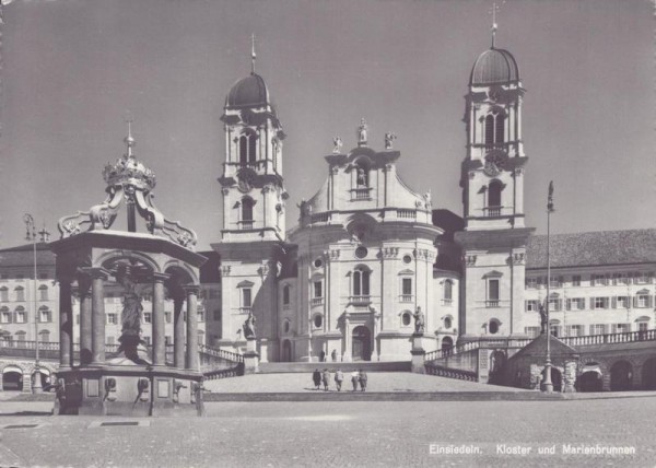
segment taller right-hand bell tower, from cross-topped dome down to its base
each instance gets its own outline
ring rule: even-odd
[[[494,45],[476,60],[466,95],[467,154],[460,187],[465,231],[465,282],[460,339],[523,336],[525,254],[524,174],[528,159],[522,137],[525,90],[511,52]]]

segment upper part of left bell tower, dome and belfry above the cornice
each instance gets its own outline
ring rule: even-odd
[[[222,239],[284,241],[282,126],[265,80],[255,72],[255,39],[250,74],[227,94],[221,120],[225,162],[219,178],[223,195]]]

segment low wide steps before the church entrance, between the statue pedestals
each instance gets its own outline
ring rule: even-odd
[[[335,372],[340,368],[343,373],[365,372],[410,372],[410,361],[384,362],[260,362],[260,374],[312,373],[315,368]]]

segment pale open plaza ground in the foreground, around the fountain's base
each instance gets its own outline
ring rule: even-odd
[[[206,418],[39,413],[49,408],[48,402],[0,402],[1,466],[599,467],[654,466],[656,460],[651,418],[656,395],[559,401],[214,402],[207,405]],[[554,453],[538,454],[541,447]],[[611,449],[634,454],[601,453]]]

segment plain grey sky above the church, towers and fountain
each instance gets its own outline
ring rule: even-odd
[[[7,2],[8,0],[2,0]],[[102,169],[125,153],[157,176],[156,206],[220,239],[220,117],[231,86],[256,71],[288,138],[283,175],[296,203],[327,177],[340,136],[370,147],[398,136],[398,172],[462,213],[465,94],[491,44],[492,1],[13,0],[3,7],[0,247],[24,243],[23,213],[58,237],[61,217],[105,198]],[[546,233],[655,227],[654,7],[649,0],[508,0],[496,47],[526,96],[526,223]]]

